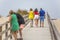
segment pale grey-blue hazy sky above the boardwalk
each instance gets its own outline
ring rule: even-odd
[[[51,18],[60,18],[60,0],[0,0],[0,15],[7,16],[9,10],[43,8]]]

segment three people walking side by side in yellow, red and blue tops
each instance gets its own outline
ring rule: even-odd
[[[40,27],[44,27],[44,18],[45,18],[45,11],[42,8],[40,8],[39,12],[37,8],[34,11],[32,8],[30,8],[29,20],[31,21],[31,27],[33,27],[33,19],[35,20],[36,27],[38,26],[39,19],[40,19]]]

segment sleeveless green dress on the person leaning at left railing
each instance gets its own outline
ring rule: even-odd
[[[12,14],[11,17],[12,17],[12,20],[11,20],[12,31],[16,31],[19,29],[17,17],[15,14]]]

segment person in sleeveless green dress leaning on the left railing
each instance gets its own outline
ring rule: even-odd
[[[15,40],[17,40],[17,31],[19,30],[17,16],[14,14],[13,10],[10,10],[9,14],[9,22],[11,24],[12,35],[15,38]]]

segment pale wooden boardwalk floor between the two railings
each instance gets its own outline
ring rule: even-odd
[[[40,22],[39,22],[40,23]],[[45,27],[30,27],[30,23],[23,29],[23,40],[52,40],[47,20]]]

